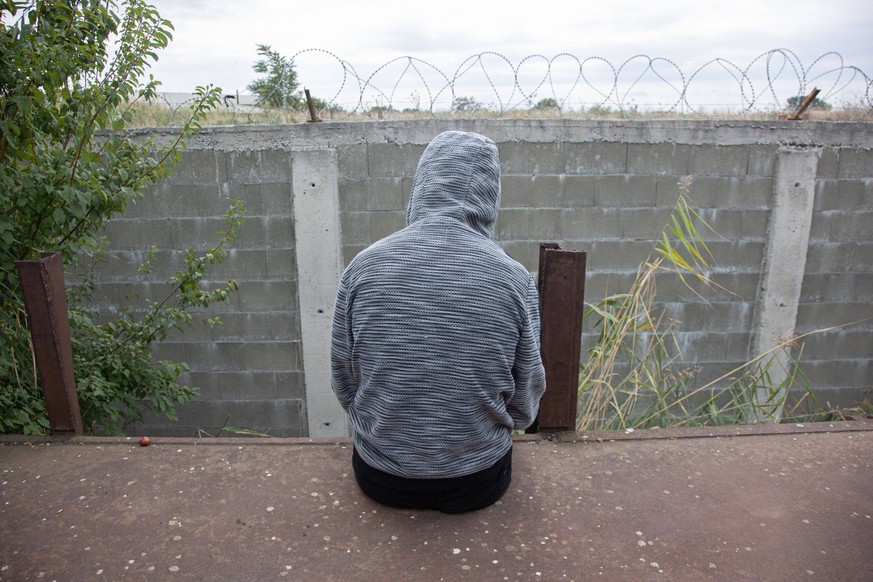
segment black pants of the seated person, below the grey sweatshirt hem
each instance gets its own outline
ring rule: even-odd
[[[364,494],[383,505],[464,513],[503,497],[512,481],[512,449],[487,469],[450,479],[409,479],[369,466],[352,451],[355,480]]]

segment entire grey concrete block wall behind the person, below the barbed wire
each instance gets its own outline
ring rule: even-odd
[[[171,179],[110,225],[116,258],[102,274],[108,311],[130,291],[156,296],[184,246],[215,240],[213,232],[230,197],[243,198],[250,214],[240,241],[214,275],[216,282],[228,277],[240,282],[234,301],[215,308],[224,324],[197,326],[156,347],[159,355],[188,359],[190,381],[201,388],[201,396],[181,408],[179,423],[149,418],[140,428],[153,434],[193,434],[198,428],[217,430],[229,417],[229,425],[280,436],[339,434],[329,431],[343,425],[341,411],[319,408],[307,416],[307,402],[326,402],[330,394],[323,358],[312,358],[323,355],[325,346],[307,347],[302,338],[325,342],[323,318],[332,306],[319,307],[322,319],[313,324],[306,323],[312,316],[308,306],[301,316],[300,296],[310,289],[309,283],[301,289],[302,265],[313,258],[297,254],[306,242],[299,237],[311,235],[301,235],[308,232],[304,227],[310,218],[295,215],[294,201],[306,187],[325,179],[317,175],[310,180],[318,164],[335,165],[327,179],[336,182],[337,244],[309,245],[306,253],[321,253],[316,262],[347,264],[361,249],[405,225],[419,156],[430,139],[447,129],[483,133],[498,144],[499,244],[531,272],[537,269],[541,242],[588,251],[588,302],[627,288],[666,223],[678,182],[691,176],[692,204],[717,233],[703,231],[714,257],[712,276],[723,290],[695,286],[704,301],[676,276],[664,274],[658,279],[658,296],[667,316],[678,322],[680,362],[699,368],[701,381],[750,357],[762,306],[772,299],[761,291],[771,241],[781,240],[771,232],[780,160],[789,147],[814,151],[809,244],[805,259],[792,264],[802,271],[802,292],[796,315],[780,316],[790,320],[780,321],[785,323],[780,329],[804,334],[858,322],[805,337],[804,370],[822,401],[850,404],[871,398],[869,124],[321,123],[209,128],[191,144]],[[316,161],[296,164],[302,152],[315,155]],[[124,267],[135,264],[152,243],[168,249],[159,252],[155,275],[147,279],[126,274]],[[324,303],[323,295],[307,299],[307,305]],[[321,326],[322,335],[304,333],[307,325]],[[583,349],[593,337],[586,327]]]

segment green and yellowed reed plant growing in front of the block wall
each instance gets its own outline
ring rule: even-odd
[[[710,290],[730,293],[710,276],[701,229],[715,231],[692,208],[690,185],[690,177],[680,181],[667,225],[628,290],[586,307],[597,339],[582,362],[577,430],[825,419],[799,365],[803,337],[700,385],[698,371],[681,363],[677,323],[656,302],[658,275],[673,273],[703,301]]]

